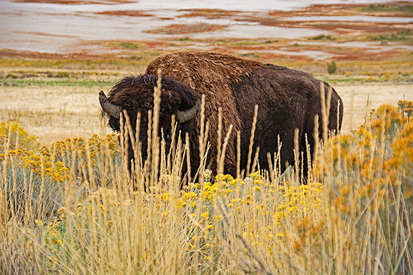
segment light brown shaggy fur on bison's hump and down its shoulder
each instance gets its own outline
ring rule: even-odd
[[[249,76],[253,71],[264,66],[263,63],[237,58],[216,52],[177,52],[165,54],[151,61],[146,74],[170,76],[179,80],[199,94],[207,96],[205,115],[210,123],[209,142],[211,142],[211,168],[216,167],[216,140],[218,129],[218,108],[222,107],[222,139],[233,124],[231,139],[226,154],[226,166],[235,167],[236,133],[241,129],[240,115],[237,114],[231,83]],[[199,122],[198,122],[199,123]],[[197,123],[197,124],[198,124]],[[199,129],[195,127],[195,129]],[[195,149],[195,148],[194,148]],[[235,171],[231,171],[232,173]]]

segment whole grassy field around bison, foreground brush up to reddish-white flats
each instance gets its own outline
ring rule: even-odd
[[[303,184],[276,155],[267,173],[191,167],[202,176],[189,181],[180,142],[151,142],[151,172],[129,176],[98,91],[145,62],[0,59],[1,274],[412,273],[413,101],[399,102],[413,100],[411,64],[282,63],[345,105]]]

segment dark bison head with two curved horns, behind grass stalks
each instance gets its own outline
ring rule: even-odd
[[[136,116],[138,113],[141,114],[139,139],[142,142],[142,159],[144,161],[147,157],[149,121],[147,114],[149,110],[153,109],[153,89],[157,86],[157,81],[158,76],[153,75],[128,76],[120,80],[109,91],[108,97],[103,91],[99,93],[102,115],[109,118],[109,126],[114,131],[120,131],[120,113],[123,110],[126,110],[129,115],[132,129],[136,129]],[[160,97],[159,128],[163,129],[163,133],[167,135],[167,143],[170,143],[171,116],[176,115],[178,131],[180,130],[182,137],[184,137],[185,133],[191,131],[191,120],[195,118],[200,109],[201,97],[188,85],[167,76],[162,76]],[[134,154],[129,146],[129,164],[133,157]]]

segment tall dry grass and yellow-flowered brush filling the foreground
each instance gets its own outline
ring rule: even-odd
[[[2,274],[412,273],[412,102],[380,107],[354,133],[319,142],[303,185],[297,170],[280,175],[279,154],[268,156],[269,173],[213,177],[202,162],[189,180],[187,144],[173,140],[166,151],[160,138],[159,95],[146,162],[127,116],[119,146],[101,133],[40,147],[18,124],[1,125]],[[258,167],[255,157],[248,163]]]

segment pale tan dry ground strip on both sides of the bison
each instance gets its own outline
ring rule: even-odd
[[[413,100],[413,84],[333,86],[344,103],[343,132],[363,124],[369,96],[369,111],[403,98]],[[0,87],[0,121],[17,120],[28,133],[39,136],[42,144],[67,137],[88,138],[100,133],[98,91],[96,87]]]

